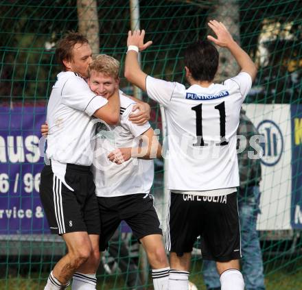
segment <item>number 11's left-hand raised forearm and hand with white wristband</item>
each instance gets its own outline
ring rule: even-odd
[[[145,37],[145,30],[137,30],[135,32],[128,32],[128,52],[125,61],[125,77],[126,79],[138,86],[143,91],[146,92],[146,73],[141,70],[139,66],[139,61],[137,60],[138,52],[143,51],[152,44],[152,41],[148,43],[143,43],[143,38]]]

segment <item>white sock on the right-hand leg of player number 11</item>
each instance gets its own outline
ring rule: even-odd
[[[221,290],[244,290],[244,280],[237,269],[229,269],[220,275]]]

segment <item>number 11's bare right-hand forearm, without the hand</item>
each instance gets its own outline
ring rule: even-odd
[[[257,67],[253,60],[251,60],[250,56],[248,56],[248,53],[246,53],[239,45],[237,45],[234,40],[229,43],[227,48],[232,53],[242,71],[249,73],[252,77],[252,80],[255,80]]]

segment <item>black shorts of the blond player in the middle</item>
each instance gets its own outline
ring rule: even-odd
[[[101,252],[108,247],[108,241],[122,220],[128,223],[138,241],[150,234],[163,234],[152,195],[139,193],[117,197],[97,197],[97,201],[101,218]]]

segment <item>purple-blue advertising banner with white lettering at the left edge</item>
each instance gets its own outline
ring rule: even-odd
[[[39,197],[44,121],[45,106],[0,108],[0,234],[49,232]]]

